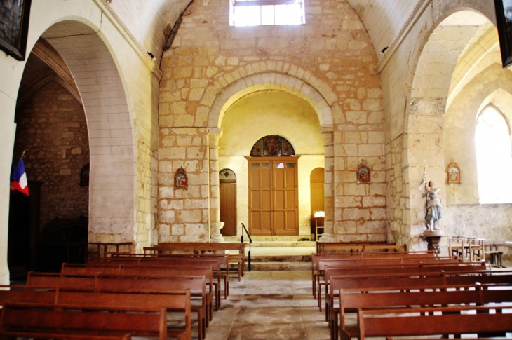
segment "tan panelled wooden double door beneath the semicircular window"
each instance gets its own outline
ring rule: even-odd
[[[297,160],[298,157],[248,158],[251,235],[299,235]]]

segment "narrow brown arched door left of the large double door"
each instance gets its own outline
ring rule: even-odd
[[[231,169],[219,172],[220,229],[222,236],[236,236],[236,174]]]

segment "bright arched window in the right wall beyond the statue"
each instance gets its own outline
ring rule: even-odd
[[[478,116],[475,145],[480,203],[512,203],[510,129],[495,107],[486,107]]]

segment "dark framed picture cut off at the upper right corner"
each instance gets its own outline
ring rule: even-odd
[[[501,48],[501,63],[508,67],[512,63],[512,0],[494,0],[496,24]]]

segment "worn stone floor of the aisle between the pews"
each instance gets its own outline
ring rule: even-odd
[[[311,294],[311,271],[252,271],[232,280],[206,340],[328,340]]]

